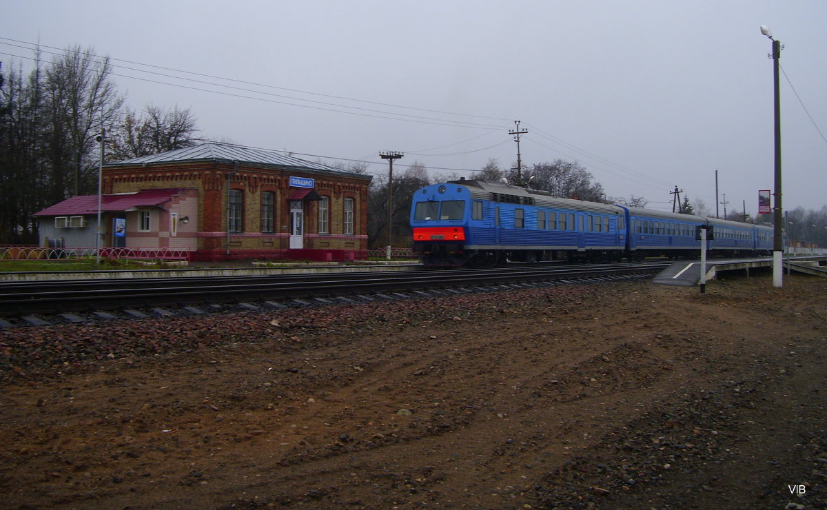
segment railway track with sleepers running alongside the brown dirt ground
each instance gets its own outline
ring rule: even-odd
[[[0,284],[0,326],[37,326],[55,322],[85,322],[114,318],[109,311],[131,317],[241,309],[284,307],[303,300],[325,303],[371,298],[402,298],[404,292],[483,292],[526,284],[620,279],[654,274],[667,264],[613,264],[499,269],[419,269],[409,272],[243,275],[145,279],[92,279]],[[461,289],[457,290],[457,289]],[[258,303],[258,304],[254,304]],[[174,307],[170,312],[163,307]],[[48,316],[52,318],[40,318]],[[59,319],[60,322],[60,319]]]

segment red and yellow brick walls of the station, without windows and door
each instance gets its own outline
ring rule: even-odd
[[[172,153],[170,153],[172,154]],[[335,169],[280,168],[272,164],[233,163],[228,160],[170,160],[109,164],[103,168],[104,193],[131,193],[151,188],[198,190],[197,250],[194,260],[289,259],[352,260],[367,254],[367,188],[370,177],[338,173]],[[140,159],[138,159],[140,160]],[[134,160],[137,161],[137,160]],[[297,188],[289,177],[314,179],[314,191],[326,196],[328,232],[318,233],[318,203],[304,205],[304,248],[289,250],[289,196]],[[242,193],[241,232],[231,232],[227,245],[227,184]],[[274,193],[272,232],[261,231],[261,194]],[[344,234],[344,199],[354,200],[354,230]],[[230,255],[227,255],[229,248]]]

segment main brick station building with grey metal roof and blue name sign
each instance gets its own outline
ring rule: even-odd
[[[192,260],[363,260],[370,179],[272,150],[204,143],[104,165],[103,194],[174,189],[192,197],[194,217],[178,229],[194,236]],[[173,214],[158,207],[162,217]],[[127,247],[153,244],[140,207],[123,217]]]

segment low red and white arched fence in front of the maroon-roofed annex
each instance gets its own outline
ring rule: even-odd
[[[0,246],[0,260],[95,259],[97,248],[39,248],[25,245]],[[189,260],[189,250],[177,248],[101,248],[103,259]]]

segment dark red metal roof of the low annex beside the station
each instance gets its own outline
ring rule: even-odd
[[[101,196],[101,212],[127,212],[141,207],[163,207],[185,188],[142,189],[136,193]],[[82,216],[98,212],[98,195],[79,195],[46,207],[35,216]]]

